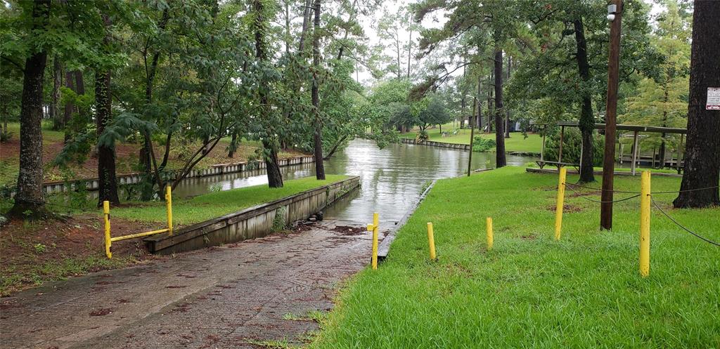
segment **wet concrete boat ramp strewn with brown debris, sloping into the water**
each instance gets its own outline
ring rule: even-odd
[[[330,310],[343,278],[369,262],[370,239],[325,221],[30,289],[0,299],[0,348],[300,343],[318,324],[286,315]]]

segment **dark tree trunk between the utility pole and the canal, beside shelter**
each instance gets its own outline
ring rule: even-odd
[[[590,99],[590,65],[588,64],[588,43],[585,41],[585,27],[582,19],[575,19],[575,43],[577,45],[577,70],[582,79],[582,105],[580,106],[580,134],[582,135],[582,158],[580,158],[580,183],[594,182],[593,174],[593,132],[595,130],[595,117],[593,117],[593,103]]]

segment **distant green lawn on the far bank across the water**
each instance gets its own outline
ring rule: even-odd
[[[443,130],[445,132],[452,132],[452,124],[444,124]],[[400,137],[402,138],[415,138],[418,135],[418,130],[405,132]],[[475,135],[481,137],[490,138],[495,140],[495,134],[480,133],[475,130]],[[459,144],[470,144],[470,130],[462,129],[459,130],[457,135],[450,135],[449,137],[442,137],[439,128],[428,129],[428,136],[430,140],[435,142],[446,142],[446,143],[459,143]],[[507,151],[518,151],[528,153],[540,153],[542,148],[542,137],[540,135],[528,134],[525,138],[521,132],[510,133],[510,138],[505,139],[505,150]]]

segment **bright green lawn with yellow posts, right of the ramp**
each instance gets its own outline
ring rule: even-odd
[[[639,191],[637,177],[615,183]],[[639,200],[615,204],[608,232],[598,230],[598,204],[566,191],[556,242],[555,186],[557,176],[523,168],[438,181],[379,270],[342,289],[311,347],[720,348],[719,248],[653,210],[651,270],[641,278]],[[679,186],[680,178],[652,179],[653,191]],[[654,197],[691,230],[720,240],[720,208],[671,209],[675,195]],[[435,228],[434,263],[426,222]]]

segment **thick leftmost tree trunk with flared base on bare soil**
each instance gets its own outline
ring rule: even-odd
[[[37,0],[32,6],[32,30],[45,30],[50,17],[50,0]],[[42,196],[42,81],[48,53],[42,48],[25,60],[20,108],[20,164],[17,193],[9,217],[45,217]]]

